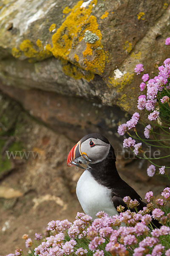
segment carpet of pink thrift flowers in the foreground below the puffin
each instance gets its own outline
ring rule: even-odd
[[[147,192],[145,199],[149,204],[139,212],[125,212],[125,207],[119,215],[109,216],[106,212],[98,212],[96,219],[77,212],[73,223],[68,220],[50,221],[48,223],[49,236],[43,239],[34,249],[34,256],[104,256],[109,253],[113,256],[157,256],[170,255],[170,213],[164,211],[163,206],[170,201],[170,188],[161,193],[156,203],[161,207],[153,208],[153,192]],[[123,198],[128,208],[137,208],[139,202],[129,196]],[[153,202],[153,203],[151,203]],[[148,214],[150,212],[150,214]],[[159,228],[153,229],[153,220],[160,223]],[[60,227],[62,231],[59,231]],[[35,235],[37,239],[41,234]],[[33,245],[28,235],[24,235],[26,247],[33,251]],[[17,249],[15,254],[8,256],[21,256],[22,250]],[[33,256],[33,254],[29,254]]]

